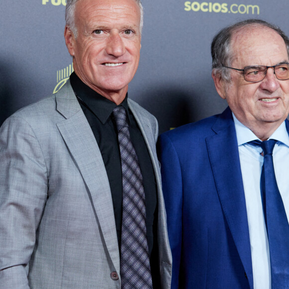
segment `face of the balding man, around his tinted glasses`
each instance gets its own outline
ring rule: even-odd
[[[238,69],[289,62],[283,38],[260,25],[233,35],[231,51],[231,67]],[[231,70],[230,73],[231,83],[223,83],[224,93],[219,94],[226,98],[237,119],[255,133],[256,128],[262,130],[268,125],[277,129],[289,113],[289,80],[278,80],[273,68],[269,68],[265,79],[258,83],[245,81],[241,71]]]

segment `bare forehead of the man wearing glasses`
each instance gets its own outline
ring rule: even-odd
[[[246,65],[275,65],[288,61],[285,41],[273,29],[261,25],[243,27],[232,35],[232,62]]]

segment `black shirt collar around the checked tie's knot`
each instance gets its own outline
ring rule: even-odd
[[[74,93],[89,107],[101,123],[105,124],[117,105],[83,83],[75,72],[70,75],[70,83]],[[127,110],[130,123],[128,94],[119,106],[123,106]]]

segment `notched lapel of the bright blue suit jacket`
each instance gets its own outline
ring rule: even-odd
[[[216,135],[208,137],[206,143],[216,188],[250,287],[253,289],[246,201],[235,125],[229,108],[217,119],[212,129]]]

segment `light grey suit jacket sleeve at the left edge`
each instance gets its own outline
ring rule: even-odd
[[[47,183],[45,159],[31,126],[10,117],[0,128],[0,288],[29,288],[29,260]]]

